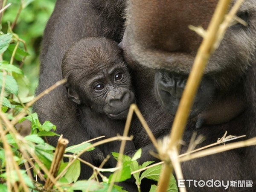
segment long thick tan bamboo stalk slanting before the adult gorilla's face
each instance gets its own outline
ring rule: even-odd
[[[189,110],[192,106],[195,93],[198,90],[198,85],[203,76],[204,68],[207,64],[209,56],[212,54],[213,46],[217,40],[217,32],[219,26],[224,20],[224,16],[230,6],[231,0],[219,0],[218,5],[215,9],[212,20],[209,23],[209,28],[205,35],[205,38],[198,49],[198,53],[195,58],[195,63],[192,67],[191,73],[189,75],[183,96],[180,100],[177,113],[172,126],[172,131],[170,134],[169,149],[174,150],[178,141],[182,138],[183,132],[185,130],[186,122],[189,115]],[[168,164],[164,164],[161,177],[158,183],[157,192],[166,192],[169,185],[169,178],[172,173],[172,167]]]

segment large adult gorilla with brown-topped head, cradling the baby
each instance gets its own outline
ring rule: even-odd
[[[124,0],[57,0],[44,33],[37,93],[61,79],[62,57],[79,39],[105,36],[119,42],[123,37],[120,45],[131,68],[137,105],[154,136],[165,136],[172,126],[175,112],[169,105],[177,107],[202,40],[188,29],[188,25],[206,29],[216,3],[217,0],[128,0],[126,29],[122,36]],[[246,134],[247,138],[256,136],[254,0],[245,0],[238,15],[248,22],[248,26],[236,24],[230,27],[210,58],[204,73],[206,81],[203,79],[202,91],[197,96],[204,102],[200,103],[198,99],[198,104],[193,106],[192,111],[198,113],[191,116],[183,136],[186,142],[194,131],[206,136],[207,140],[198,147],[215,143],[225,131],[232,135]],[[175,86],[177,92],[173,91]],[[209,90],[205,91],[205,86]],[[170,94],[166,96],[162,91]],[[169,104],[166,103],[168,100]],[[51,120],[55,123],[57,132],[64,134],[71,145],[89,138],[89,133],[78,121],[76,105],[69,101],[64,86],[37,102],[35,111],[41,122]],[[152,160],[148,151],[153,146],[137,119],[132,122],[131,134],[136,148],[143,147],[140,161]],[[56,139],[51,138],[49,142],[54,144]],[[181,152],[184,151],[186,147]],[[251,146],[191,160],[182,163],[183,175],[185,179],[196,180],[253,180],[253,188],[229,187],[227,191],[256,191],[255,154],[256,148]],[[101,156],[100,150],[94,150],[85,153],[83,158],[94,163]],[[82,169],[82,177],[88,178],[91,170],[86,166]],[[216,191],[221,188],[188,190]]]

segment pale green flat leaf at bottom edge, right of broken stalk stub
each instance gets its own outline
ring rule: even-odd
[[[95,180],[79,180],[73,184],[70,188],[72,190],[87,190],[87,191],[96,191],[97,189],[101,189],[104,186],[101,183],[98,183]]]

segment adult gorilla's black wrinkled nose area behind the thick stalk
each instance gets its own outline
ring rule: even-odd
[[[162,107],[175,116],[180,98],[185,88],[187,76],[170,73],[165,70],[155,74],[155,91]],[[198,116],[211,103],[215,93],[215,86],[211,79],[203,78],[195,96],[189,119]]]

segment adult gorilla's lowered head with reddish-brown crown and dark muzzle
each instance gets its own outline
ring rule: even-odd
[[[157,99],[173,116],[202,38],[189,25],[207,29],[217,0],[129,1],[122,47],[126,59],[155,69]],[[140,10],[140,11],[138,11]],[[209,59],[190,118],[222,123],[244,110],[243,80],[256,53],[256,5],[246,0]],[[129,64],[132,66],[132,64]]]

